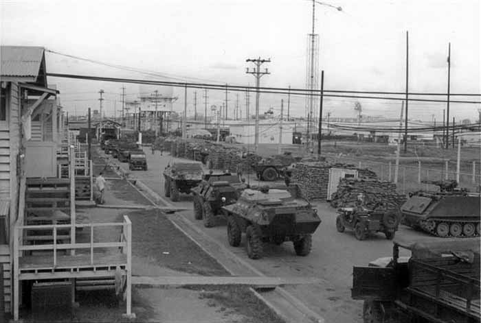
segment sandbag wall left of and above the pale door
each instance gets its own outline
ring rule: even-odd
[[[374,171],[354,165],[312,162],[297,163],[292,171],[291,183],[297,184],[302,196],[308,200],[326,200],[331,168],[357,169],[359,178],[377,178]]]

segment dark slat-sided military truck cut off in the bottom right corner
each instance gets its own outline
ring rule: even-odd
[[[365,323],[480,322],[480,239],[395,240],[392,257],[354,267],[351,293]]]

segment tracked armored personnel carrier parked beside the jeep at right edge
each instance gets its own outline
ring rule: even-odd
[[[456,189],[456,181],[429,182],[439,192],[418,191],[401,206],[402,224],[438,237],[480,235],[480,194]]]

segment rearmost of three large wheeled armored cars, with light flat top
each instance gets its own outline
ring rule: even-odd
[[[164,193],[172,202],[180,200],[181,193],[191,193],[202,180],[202,164],[192,160],[172,160],[164,169]]]

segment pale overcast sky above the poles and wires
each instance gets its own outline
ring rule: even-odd
[[[338,0],[316,5],[315,33],[319,34],[319,68],[324,89],[352,91],[405,91],[405,45],[409,31],[409,88],[413,92],[446,93],[447,51],[451,43],[451,93],[481,93],[479,0]],[[58,53],[133,67],[175,77],[174,81],[254,85],[245,73],[247,58],[270,58],[271,72],[262,86],[305,88],[307,34],[311,32],[309,0],[0,0],[1,45],[42,46],[47,71],[104,77],[169,80]],[[138,86],[49,77],[60,90],[65,110],[78,115],[98,108],[104,89],[107,115],[120,109],[122,85],[127,99],[135,99]],[[161,88],[161,92],[169,89]],[[202,91],[189,89],[188,113],[193,113],[194,91],[198,109]],[[174,108],[183,110],[183,88]],[[225,93],[209,91],[208,106],[220,106]],[[438,97],[445,99],[445,97]],[[245,108],[245,94],[228,95],[230,111]],[[260,96],[260,112],[273,108],[287,95]],[[451,99],[455,99],[452,97]],[[481,101],[481,97],[456,97]],[[401,101],[324,99],[331,117],[355,117],[354,104],[363,115],[399,118]],[[254,110],[254,95],[250,96]],[[410,102],[410,118],[443,120],[443,103]],[[456,119],[478,117],[480,104],[452,104]],[[304,115],[305,99],[291,96],[291,115]],[[118,113],[118,112],[117,112]],[[231,112],[230,112],[231,113]],[[284,111],[285,113],[285,111]]]

